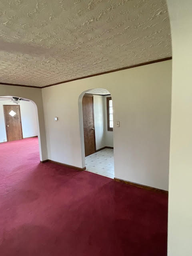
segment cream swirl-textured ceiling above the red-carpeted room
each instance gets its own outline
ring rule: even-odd
[[[0,82],[45,86],[171,55],[166,0],[0,0]]]

